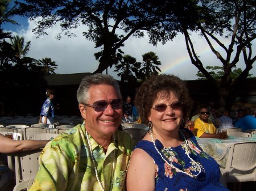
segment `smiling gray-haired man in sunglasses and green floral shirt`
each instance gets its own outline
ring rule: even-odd
[[[84,123],[47,144],[30,190],[125,190],[134,141],[117,130],[122,119],[117,82],[104,74],[86,77],[77,100]]]

